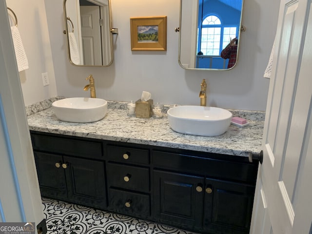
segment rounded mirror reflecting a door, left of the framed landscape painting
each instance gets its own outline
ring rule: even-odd
[[[76,66],[109,66],[113,62],[109,0],[64,0],[69,60]]]

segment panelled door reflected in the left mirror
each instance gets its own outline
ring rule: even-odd
[[[102,65],[100,13],[98,6],[80,6],[83,64]]]

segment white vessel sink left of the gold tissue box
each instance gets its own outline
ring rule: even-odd
[[[65,98],[52,103],[59,120],[90,123],[105,117],[107,101],[100,98]]]

